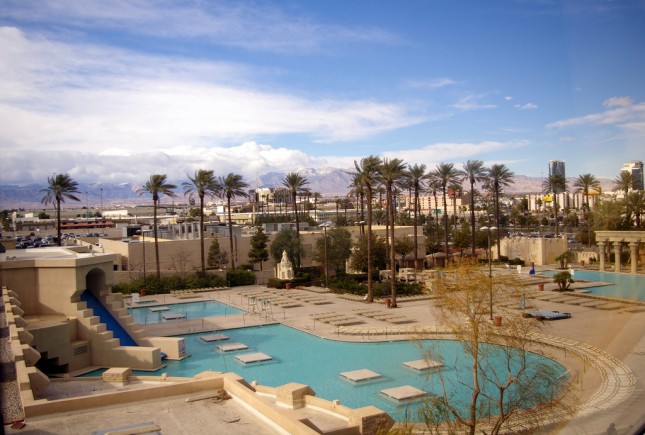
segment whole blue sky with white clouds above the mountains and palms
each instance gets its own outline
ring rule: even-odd
[[[0,183],[645,160],[645,1],[2,0]]]

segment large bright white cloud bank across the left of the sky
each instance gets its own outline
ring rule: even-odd
[[[0,28],[0,141],[128,155],[261,135],[343,141],[423,121],[396,103],[256,89],[251,83],[259,73],[237,64],[28,39]]]

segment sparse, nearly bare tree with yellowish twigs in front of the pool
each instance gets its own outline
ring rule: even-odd
[[[470,366],[470,373],[460,374],[456,383],[470,394],[460,402],[452,394],[454,382],[437,372],[442,392],[421,410],[433,432],[529,431],[554,414],[567,416],[573,411],[571,379],[562,366],[541,358],[541,347],[530,339],[541,323],[508,308],[518,307],[529,290],[515,275],[494,278],[482,268],[464,264],[436,285],[439,317],[461,344]],[[503,326],[488,319],[490,298]],[[431,350],[427,357],[442,358]]]

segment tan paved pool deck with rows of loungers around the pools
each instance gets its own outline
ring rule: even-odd
[[[506,272],[497,270],[497,273]],[[535,298],[527,301],[531,310],[572,314],[571,319],[545,322],[541,335],[536,337],[548,343],[550,355],[578,376],[575,393],[583,404],[576,418],[551,433],[601,434],[606,433],[611,423],[616,425],[620,433],[639,422],[643,416],[642,409],[645,409],[645,303],[612,300],[578,291],[555,292],[553,289],[556,285],[550,283],[548,277],[526,279],[531,285],[545,284],[544,291],[536,292]],[[450,338],[439,324],[434,299],[430,296],[399,297],[399,307],[388,309],[380,299],[368,304],[361,298],[326,293],[320,288],[275,290],[246,286],[199,293],[191,301],[216,300],[246,310],[248,299],[253,296],[258,300],[275,298],[273,300],[283,301],[286,298],[298,303],[294,304],[296,306],[272,304],[270,311],[258,310],[254,314],[180,319],[146,325],[144,328],[151,336],[170,336],[201,332],[214,334],[232,328],[282,323],[333,340],[365,342],[421,336]],[[143,299],[146,298],[157,299],[159,306],[186,302],[174,295]],[[397,319],[405,321],[397,323]],[[353,324],[344,326],[343,321]],[[244,418],[248,417],[243,411],[239,412]],[[39,421],[34,421],[30,427],[37,429],[38,424]],[[262,431],[258,433],[272,432],[260,422],[249,424],[260,425],[258,428],[262,427]],[[231,430],[227,433],[235,433],[232,432],[235,427],[242,429],[236,424],[227,427]],[[47,428],[52,430],[51,426]],[[10,427],[6,429],[7,433],[20,433],[12,432]],[[54,432],[68,433],[64,430]]]

